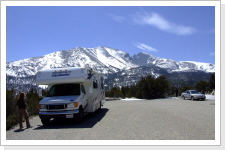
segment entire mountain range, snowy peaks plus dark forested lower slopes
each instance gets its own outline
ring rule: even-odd
[[[166,75],[168,79],[179,84],[193,84],[207,80],[209,72],[215,72],[215,65],[192,61],[174,61],[159,58],[147,53],[130,56],[120,50],[108,47],[74,48],[57,51],[40,57],[6,63],[7,89],[27,91],[36,88],[35,74],[39,70],[61,67],[90,66],[104,74],[108,89],[112,86],[131,85],[149,74],[157,77]],[[24,89],[25,88],[25,89]]]

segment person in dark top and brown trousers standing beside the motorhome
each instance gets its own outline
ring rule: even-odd
[[[27,105],[25,103],[25,100],[24,100],[24,97],[25,97],[25,94],[23,92],[20,93],[19,95],[19,99],[17,100],[17,106],[18,106],[18,109],[19,109],[19,126],[20,126],[20,130],[23,129],[23,115],[24,115],[24,118],[26,119],[26,126],[27,128],[31,128],[32,126],[30,125],[30,121],[29,121],[29,116],[28,116],[28,113],[27,113]]]

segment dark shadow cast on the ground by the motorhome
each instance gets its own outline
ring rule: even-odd
[[[92,128],[97,124],[109,111],[107,108],[102,108],[99,112],[89,113],[84,116],[81,123],[77,123],[75,119],[62,119],[62,120],[51,120],[50,125],[43,126],[38,125],[34,130],[42,129],[67,129],[67,128]]]

